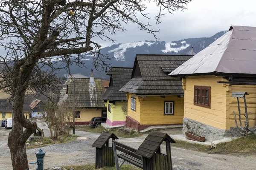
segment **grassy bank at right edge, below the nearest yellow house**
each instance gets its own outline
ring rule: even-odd
[[[217,144],[211,153],[241,153],[256,154],[256,135],[249,135],[247,138],[234,139],[230,142]]]

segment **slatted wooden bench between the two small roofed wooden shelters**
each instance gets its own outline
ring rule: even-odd
[[[120,142],[113,141],[113,150],[114,150],[114,156],[115,156],[115,162],[116,162],[116,170],[119,170],[119,168],[122,166],[122,164],[125,163],[125,161],[135,165],[136,167],[140,167],[143,169],[142,157],[135,154],[137,149],[129,147]],[[119,150],[122,153],[117,154],[116,150]],[[124,160],[120,164],[120,166],[118,163],[118,158],[121,158]]]

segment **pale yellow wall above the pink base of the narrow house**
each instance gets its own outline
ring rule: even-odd
[[[113,122],[113,121],[125,121],[125,115],[122,112],[122,105],[127,105],[127,102],[121,102],[121,101],[116,101],[115,105],[113,103],[107,102],[107,107],[108,104],[111,105],[111,112],[108,111],[107,108],[107,118]]]

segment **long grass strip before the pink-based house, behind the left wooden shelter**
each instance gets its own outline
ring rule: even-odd
[[[128,132],[128,131],[122,130],[121,128],[117,130],[106,130],[103,126],[98,126],[93,128],[86,125],[83,127],[76,127],[76,130],[92,132],[92,133],[111,132],[111,133],[114,133],[116,136],[123,137],[123,138],[136,138],[143,135],[143,133],[141,132],[137,132],[137,131]]]

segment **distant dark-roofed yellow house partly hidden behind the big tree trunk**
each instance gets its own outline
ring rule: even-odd
[[[23,113],[26,119],[29,119],[29,115],[32,112],[29,108],[29,98],[24,99]],[[0,120],[12,118],[12,100],[0,99]]]

